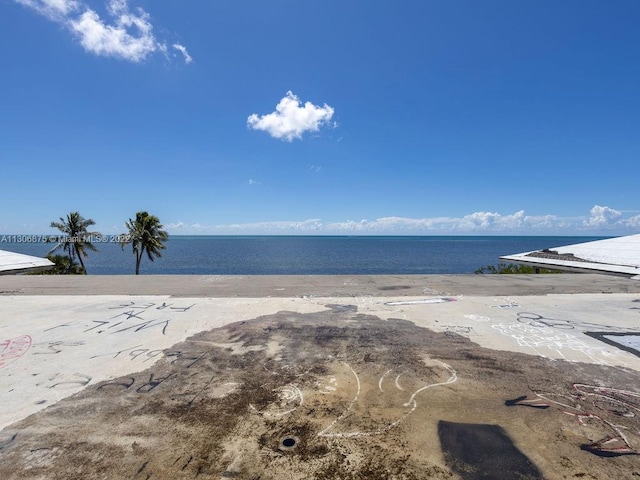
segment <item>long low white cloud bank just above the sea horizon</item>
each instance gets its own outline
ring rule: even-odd
[[[475,212],[457,218],[382,217],[342,222],[307,219],[211,226],[178,221],[165,226],[175,235],[629,235],[640,233],[640,214],[625,215],[613,208],[595,205],[588,216],[571,218],[526,215],[520,210],[507,215]]]

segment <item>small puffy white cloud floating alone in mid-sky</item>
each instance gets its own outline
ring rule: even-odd
[[[293,92],[287,94],[276,105],[275,112],[258,116],[254,113],[247,118],[247,126],[254,130],[263,130],[273,138],[293,141],[302,138],[305,132],[317,132],[329,123],[334,109],[326,103],[320,107],[311,102],[302,106]]]

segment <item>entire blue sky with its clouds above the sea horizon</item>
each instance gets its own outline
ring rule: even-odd
[[[640,232],[640,2],[0,0],[0,232]]]

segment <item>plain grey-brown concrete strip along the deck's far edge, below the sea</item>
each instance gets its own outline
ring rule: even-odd
[[[640,281],[601,274],[0,276],[0,295],[259,298],[571,293],[640,293]]]

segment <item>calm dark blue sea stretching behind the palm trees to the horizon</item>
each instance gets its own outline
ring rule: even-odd
[[[45,256],[52,244],[0,242],[0,250]],[[0,235],[0,239],[2,235]],[[606,237],[523,236],[171,236],[161,258],[142,261],[142,274],[361,275],[473,273],[522,253]],[[87,271],[133,274],[131,248],[96,245]]]

